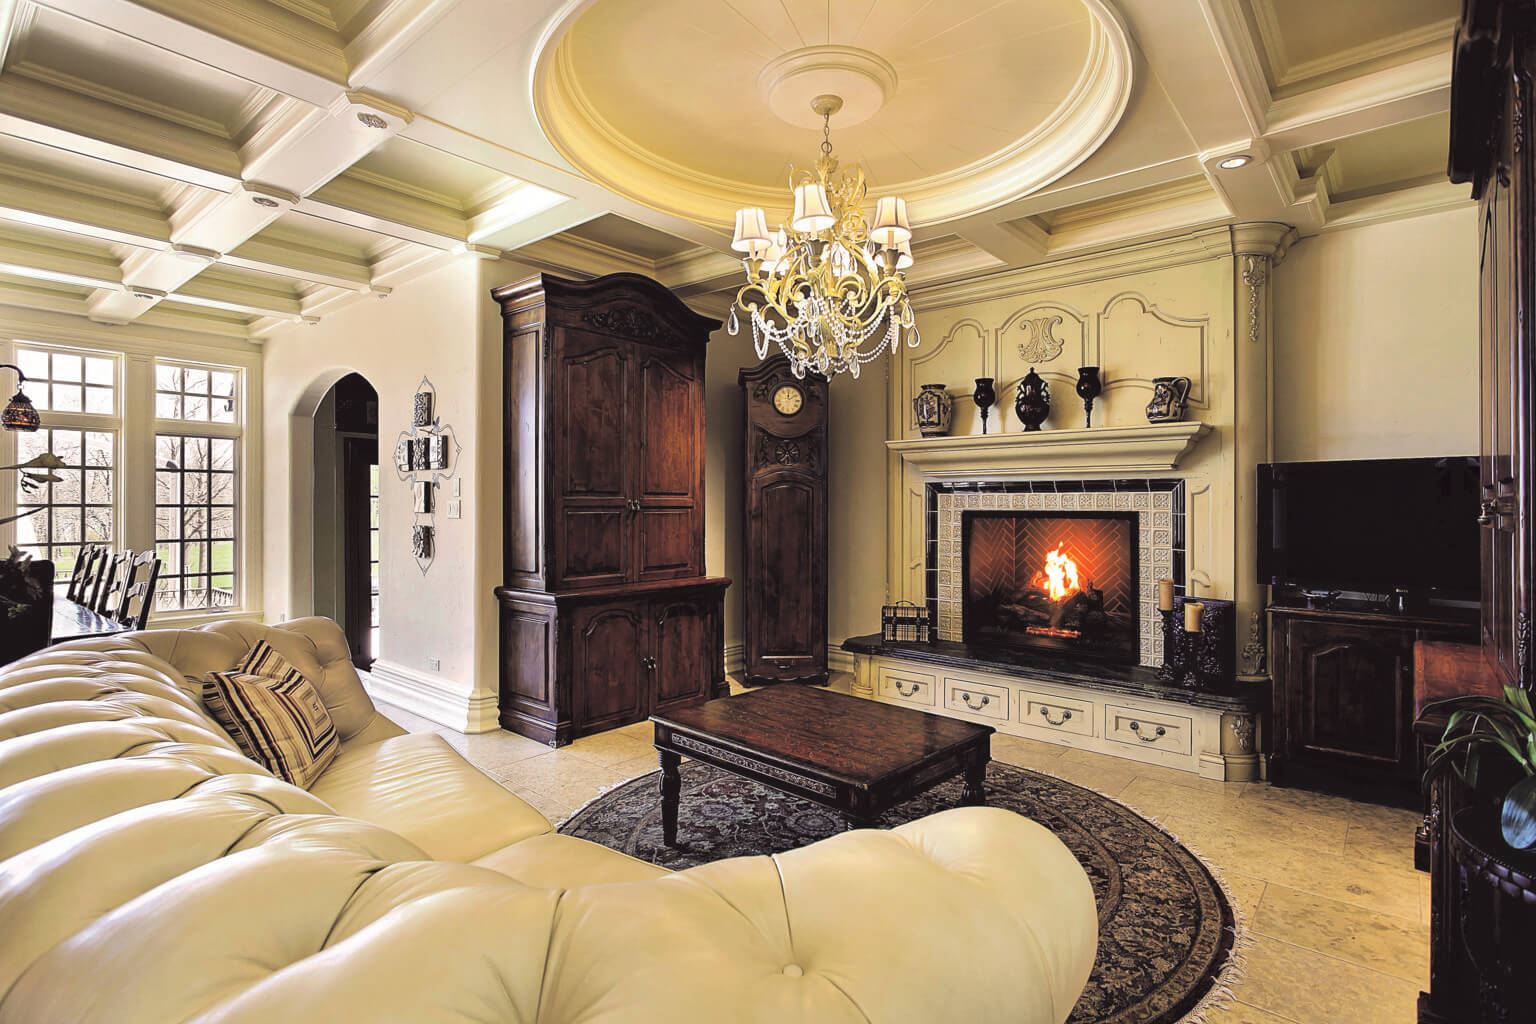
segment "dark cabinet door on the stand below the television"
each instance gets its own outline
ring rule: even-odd
[[[1413,771],[1413,634],[1293,625],[1292,755]]]

